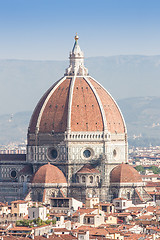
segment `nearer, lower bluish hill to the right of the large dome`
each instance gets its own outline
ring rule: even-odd
[[[160,145],[160,97],[137,97],[118,101],[124,115],[130,145]]]

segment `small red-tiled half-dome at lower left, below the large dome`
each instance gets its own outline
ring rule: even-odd
[[[38,169],[32,183],[67,183],[67,181],[59,168],[48,163]]]

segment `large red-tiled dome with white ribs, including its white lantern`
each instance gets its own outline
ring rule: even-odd
[[[40,99],[30,121],[29,133],[126,133],[119,107],[112,96],[88,75],[83,61],[76,36],[70,66],[64,77]]]

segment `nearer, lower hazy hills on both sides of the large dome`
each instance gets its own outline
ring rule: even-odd
[[[160,145],[160,97],[126,98],[117,103],[127,124],[130,145]],[[24,141],[31,114],[0,115],[0,144]]]

